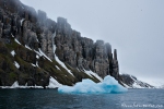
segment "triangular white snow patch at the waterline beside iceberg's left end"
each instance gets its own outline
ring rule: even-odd
[[[52,76],[49,77],[49,85],[47,86],[47,88],[57,88],[57,87],[61,87],[62,84],[60,84],[58,81],[56,81]]]

